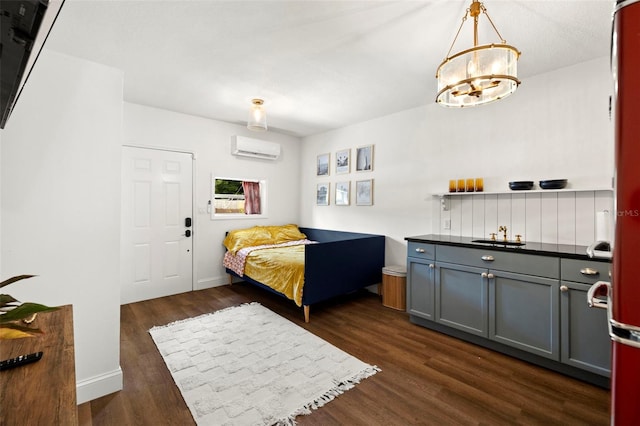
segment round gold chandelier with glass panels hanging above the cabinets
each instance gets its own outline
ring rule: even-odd
[[[498,44],[478,45],[478,18],[484,13],[496,34]],[[451,56],[458,35],[468,16],[473,17],[473,47]],[[484,4],[473,0],[456,33],[447,57],[438,67],[436,102],[447,107],[483,105],[509,96],[518,88],[520,52],[509,46],[487,13]]]

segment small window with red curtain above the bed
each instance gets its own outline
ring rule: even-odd
[[[213,178],[211,217],[267,217],[267,182],[256,179]]]

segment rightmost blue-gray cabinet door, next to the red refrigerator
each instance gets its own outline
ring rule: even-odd
[[[606,309],[589,308],[587,284],[562,281],[560,321],[562,362],[607,377],[611,375],[611,338]]]

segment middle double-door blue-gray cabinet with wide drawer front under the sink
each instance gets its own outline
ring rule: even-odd
[[[436,321],[560,360],[559,259],[436,246]]]

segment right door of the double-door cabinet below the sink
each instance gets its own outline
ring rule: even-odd
[[[559,280],[489,271],[489,338],[560,361]]]

